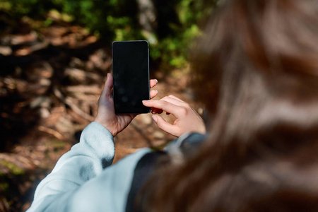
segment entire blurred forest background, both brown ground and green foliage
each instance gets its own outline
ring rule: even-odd
[[[38,182],[93,121],[114,40],[148,40],[158,97],[192,103],[189,54],[217,0],[0,0],[0,211],[25,211]],[[165,119],[173,117],[163,114]],[[172,136],[141,114],[114,163]]]

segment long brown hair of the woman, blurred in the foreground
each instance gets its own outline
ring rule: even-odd
[[[318,211],[318,1],[224,1],[193,59],[213,122],[144,211]]]

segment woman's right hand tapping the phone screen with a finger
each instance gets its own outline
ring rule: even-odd
[[[158,127],[173,136],[181,136],[188,132],[206,133],[206,126],[203,119],[196,113],[187,102],[176,98],[173,95],[166,96],[161,100],[144,100],[143,105],[152,107],[153,112],[173,114],[177,119],[173,124],[165,122],[165,119],[158,115],[153,115],[153,120]]]

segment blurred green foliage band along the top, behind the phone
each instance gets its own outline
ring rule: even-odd
[[[151,58],[182,68],[187,64],[198,21],[211,13],[217,0],[151,0],[156,10],[155,33],[139,25],[137,1],[128,0],[0,0],[0,11],[12,17],[29,16],[51,25],[52,16],[83,25],[91,33],[112,40],[148,40]],[[50,14],[50,16],[47,16]]]

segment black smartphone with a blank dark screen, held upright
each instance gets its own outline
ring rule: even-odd
[[[116,114],[148,113],[149,47],[146,40],[112,42],[112,76]]]

